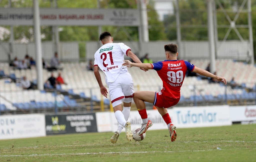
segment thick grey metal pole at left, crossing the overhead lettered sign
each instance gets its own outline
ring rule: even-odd
[[[36,53],[36,71],[37,71],[37,88],[44,89],[43,85],[43,65],[42,65],[42,44],[41,44],[41,31],[40,31],[40,17],[39,17],[39,4],[37,0],[33,1],[34,13],[34,34],[35,34],[35,53]]]

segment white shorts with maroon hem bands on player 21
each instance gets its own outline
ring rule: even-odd
[[[130,73],[121,73],[114,82],[108,83],[109,96],[112,106],[115,107],[125,103],[132,102],[133,98],[133,81]]]

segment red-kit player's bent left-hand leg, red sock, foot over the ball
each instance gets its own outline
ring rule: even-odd
[[[149,127],[151,127],[152,121],[148,120],[147,112],[146,112],[146,105],[145,102],[154,103],[155,100],[155,92],[154,91],[138,91],[134,93],[133,100],[135,105],[138,109],[139,114],[141,115],[142,124],[141,124],[141,131],[138,133],[142,135],[147,131]]]

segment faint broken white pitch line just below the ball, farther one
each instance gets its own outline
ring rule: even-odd
[[[206,143],[206,142],[256,143],[256,141],[177,141],[174,143]],[[166,142],[159,142],[157,144],[163,144],[163,143],[166,143]],[[138,143],[138,144],[140,144],[140,143]],[[148,143],[148,144],[156,144],[156,143]],[[95,145],[108,145],[108,144],[51,145],[49,147],[78,147],[78,146],[95,146]],[[121,144],[114,144],[114,145],[121,145]],[[38,147],[45,147],[45,146],[29,146],[29,147],[14,147],[14,148],[38,148]],[[1,148],[1,149],[7,149],[7,148],[10,148],[10,147],[5,147],[5,148]]]

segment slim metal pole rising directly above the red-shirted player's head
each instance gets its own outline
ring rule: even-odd
[[[183,48],[182,48],[182,43],[181,43],[181,32],[180,32],[180,17],[179,17],[179,2],[176,0],[175,2],[175,15],[176,15],[176,34],[177,34],[177,44],[178,44],[178,49],[181,55],[179,55],[179,60],[184,58],[185,53],[183,53]]]

